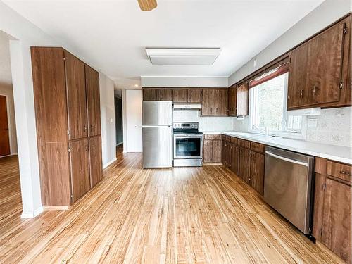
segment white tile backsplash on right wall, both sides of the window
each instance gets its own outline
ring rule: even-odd
[[[317,127],[307,127],[306,141],[351,147],[351,107],[322,109],[316,118]],[[249,118],[234,120],[234,130],[248,132]]]

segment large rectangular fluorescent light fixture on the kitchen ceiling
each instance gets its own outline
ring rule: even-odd
[[[146,48],[146,55],[155,65],[212,65],[220,48]]]

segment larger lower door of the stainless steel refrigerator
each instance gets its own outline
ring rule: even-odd
[[[143,168],[172,167],[172,127],[144,126]]]

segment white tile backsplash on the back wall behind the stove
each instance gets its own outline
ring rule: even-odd
[[[202,117],[198,110],[174,110],[174,122],[199,122],[200,131],[234,130],[230,117]]]

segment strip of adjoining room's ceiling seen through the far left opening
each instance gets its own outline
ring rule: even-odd
[[[12,84],[9,39],[8,34],[0,31],[0,85]]]

